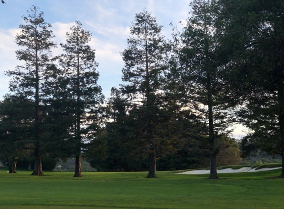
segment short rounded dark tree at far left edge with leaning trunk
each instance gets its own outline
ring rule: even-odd
[[[24,98],[5,96],[0,102],[0,155],[16,173],[17,159],[30,155],[27,136],[32,121],[32,105]]]

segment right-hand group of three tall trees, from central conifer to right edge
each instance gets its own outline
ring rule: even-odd
[[[133,121],[112,125],[135,124],[139,132],[127,137],[147,151],[148,177],[155,177],[157,152],[159,157],[174,153],[174,139],[179,145],[190,139],[189,144],[209,150],[209,178],[218,178],[219,141],[235,123],[251,131],[242,139],[243,151],[284,159],[284,2],[193,0],[190,6],[191,17],[170,42],[155,18],[145,11],[136,15],[122,52],[128,85],[114,89],[116,95],[121,92],[114,101],[124,100],[124,115]]]

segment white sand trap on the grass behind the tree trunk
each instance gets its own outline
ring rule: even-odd
[[[256,170],[255,168],[251,167],[242,167],[239,169],[232,169],[232,168],[226,168],[226,169],[222,169],[222,170],[217,170],[217,173],[245,173],[245,172],[258,172],[258,171],[266,171],[266,170],[274,170],[274,169],[279,169],[282,167],[273,167],[273,168],[261,168]],[[186,171],[186,172],[182,172],[182,173],[178,173],[178,174],[209,174],[210,170],[191,170],[191,171]]]

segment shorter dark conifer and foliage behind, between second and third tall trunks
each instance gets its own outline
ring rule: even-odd
[[[135,121],[127,114],[129,105],[120,90],[112,88],[111,98],[107,101],[108,122],[100,137],[102,146],[90,144],[87,156],[91,165],[104,171],[145,171],[147,170],[147,155],[136,151],[140,145],[132,141],[135,134]],[[107,142],[107,145],[104,143]],[[95,146],[94,146],[95,145]],[[100,152],[93,149],[102,148]],[[107,148],[107,150],[106,150]],[[92,151],[90,153],[90,151]],[[104,152],[107,151],[107,152]],[[90,154],[89,154],[90,153]],[[99,154],[99,155],[98,155]]]

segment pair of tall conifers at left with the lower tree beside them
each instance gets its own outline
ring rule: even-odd
[[[74,177],[81,177],[83,142],[96,138],[99,105],[104,99],[97,85],[95,50],[88,45],[91,34],[76,21],[66,33],[66,44],[60,44],[65,53],[52,56],[52,49],[57,47],[52,41],[52,26],[38,9],[33,6],[23,17],[26,24],[19,26],[16,36],[16,44],[22,47],[16,56],[24,64],[6,71],[12,79],[11,93],[1,103],[2,149],[33,149],[32,175],[43,175],[42,157],[46,153],[73,155]]]

